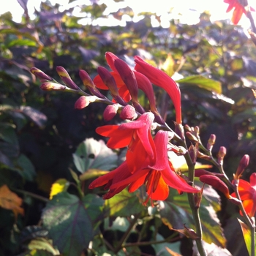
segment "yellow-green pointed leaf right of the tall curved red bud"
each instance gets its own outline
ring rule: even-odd
[[[198,86],[208,91],[214,91],[217,94],[222,94],[222,84],[220,82],[210,78],[205,78],[202,75],[192,75],[187,78],[176,80],[176,82]]]

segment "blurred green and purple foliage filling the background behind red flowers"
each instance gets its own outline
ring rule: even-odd
[[[217,135],[213,153],[217,154],[219,146],[227,148],[225,170],[230,178],[241,157],[249,154],[251,162],[244,173],[244,179],[248,179],[256,164],[252,94],[256,89],[255,45],[239,26],[230,25],[228,20],[211,23],[208,13],[203,13],[200,22],[192,26],[170,20],[168,29],[153,28],[151,16],[159,17],[144,12],[138,23],[99,27],[79,25],[80,18],[73,17],[72,10],[59,12],[59,5],[51,6],[48,1],[41,4],[41,12],[35,12],[36,18],[31,20],[26,1],[19,2],[25,11],[21,23],[13,22],[10,12],[0,16],[0,187],[7,185],[23,203],[13,200],[15,206],[9,209],[1,203],[0,255],[170,255],[166,246],[181,255],[192,255],[192,241],[168,228],[181,229],[184,223],[189,227],[186,205],[182,218],[178,208],[186,197],[172,192],[165,203],[145,208],[139,203],[140,195],[124,191],[104,202],[96,195],[102,195],[102,190],[89,191],[92,178],[102,170],[113,169],[122,159],[122,152],[108,151],[103,142],[96,141],[102,140],[94,130],[105,124],[105,106],[91,104],[75,110],[78,95],[41,91],[29,69],[37,67],[59,80],[55,69],[62,66],[83,89],[79,69],[94,78],[99,65],[106,67],[106,51],[131,66],[132,56],[139,55],[152,64],[165,64],[162,68],[170,75],[178,70],[184,76],[179,82],[184,124],[200,127],[204,144],[209,135]],[[104,17],[105,8],[105,4],[91,1],[82,12],[94,20]],[[132,17],[133,13],[125,8],[113,15],[121,19],[122,15]],[[171,102],[159,89],[156,95],[159,110],[164,111]],[[148,104],[143,94],[140,102],[145,107]],[[174,114],[170,108],[170,127]],[[102,156],[112,156],[108,167],[100,162]],[[80,175],[83,177],[79,179]],[[62,192],[49,201],[50,189],[57,180]],[[211,207],[211,214],[215,214],[211,219],[214,223],[205,227],[208,241],[227,248],[232,255],[246,255],[236,220],[238,209],[208,189],[212,197],[203,207]],[[0,193],[0,197],[3,202],[5,195]],[[61,222],[56,212],[62,217],[67,213],[81,216],[76,220],[69,217],[67,225],[68,235],[76,242],[67,239],[63,225],[53,228],[54,223]],[[203,221],[209,222],[207,212]],[[78,226],[82,230],[72,228]],[[83,235],[78,236],[79,232]],[[120,237],[124,238],[121,244]]]

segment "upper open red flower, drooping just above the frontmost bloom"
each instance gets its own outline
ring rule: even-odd
[[[154,158],[154,150],[150,143],[151,124],[154,121],[154,114],[151,112],[143,113],[136,121],[121,125],[105,125],[98,127],[96,132],[99,135],[110,137],[107,146],[109,148],[129,147],[133,150],[136,141],[141,140],[147,154]]]

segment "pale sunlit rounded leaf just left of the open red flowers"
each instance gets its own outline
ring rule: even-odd
[[[84,173],[89,169],[111,170],[116,167],[117,155],[108,148],[103,140],[89,138],[79,144],[73,154],[75,167]]]

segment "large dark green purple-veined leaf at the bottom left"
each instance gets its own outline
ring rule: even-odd
[[[93,238],[93,227],[83,201],[68,192],[50,200],[42,214],[43,227],[64,255],[80,255]]]

